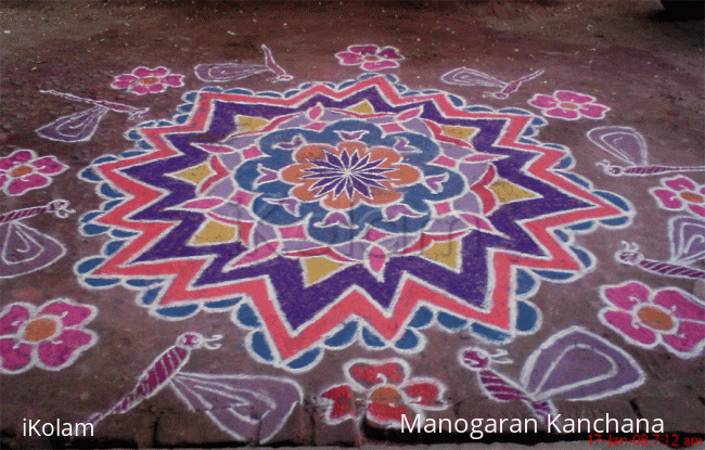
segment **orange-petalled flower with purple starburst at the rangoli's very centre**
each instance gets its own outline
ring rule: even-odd
[[[413,184],[421,173],[400,163],[402,157],[387,147],[360,142],[304,145],[296,151],[298,163],[282,171],[295,184],[291,193],[303,202],[322,200],[326,206],[348,209],[359,202],[383,205],[397,201],[396,189]]]

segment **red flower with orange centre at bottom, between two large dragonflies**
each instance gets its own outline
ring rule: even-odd
[[[423,422],[424,410],[443,410],[446,387],[435,378],[409,377],[409,364],[400,359],[356,359],[344,367],[349,384],[333,386],[321,394],[326,399],[325,419],[338,424],[361,419],[393,427],[401,426],[401,416]],[[411,423],[411,422],[410,422]]]

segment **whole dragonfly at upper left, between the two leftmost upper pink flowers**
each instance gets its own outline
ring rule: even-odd
[[[150,111],[149,107],[134,107],[105,100],[84,99],[78,95],[59,92],[53,89],[42,90],[39,92],[50,93],[52,95],[61,97],[62,99],[93,105],[90,110],[81,111],[68,116],[62,116],[51,124],[44,125],[35,130],[37,134],[52,141],[81,142],[90,140],[95,133],[99,124],[110,111],[127,113],[129,114],[130,120],[142,117],[148,111]]]

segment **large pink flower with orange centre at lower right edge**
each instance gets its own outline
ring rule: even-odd
[[[642,348],[663,345],[680,358],[693,358],[705,347],[705,305],[677,287],[652,291],[637,281],[602,286],[608,305],[599,318],[606,326]]]

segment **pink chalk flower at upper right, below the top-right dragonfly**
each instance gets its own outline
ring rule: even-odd
[[[534,94],[528,104],[541,110],[546,117],[577,120],[581,117],[602,119],[610,107],[595,103],[595,98],[573,91],[555,91],[553,95]]]

